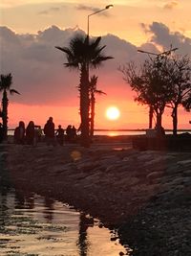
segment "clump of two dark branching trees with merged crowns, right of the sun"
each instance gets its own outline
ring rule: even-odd
[[[148,105],[151,116],[156,116],[156,127],[161,128],[162,114],[166,106],[172,108],[173,134],[177,135],[178,107],[190,109],[191,61],[187,57],[171,55],[170,51],[149,58],[137,68],[129,62],[119,70],[124,80],[137,92],[135,98],[141,105]]]

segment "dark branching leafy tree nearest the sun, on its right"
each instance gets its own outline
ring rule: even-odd
[[[166,58],[146,59],[139,70],[134,62],[129,62],[119,70],[123,79],[137,92],[135,101],[141,105],[148,105],[150,115],[153,113],[157,119],[157,128],[161,128],[162,114],[165,105],[169,103],[171,90],[168,87],[168,76],[163,74],[162,66],[166,64]],[[151,118],[150,118],[151,123]]]

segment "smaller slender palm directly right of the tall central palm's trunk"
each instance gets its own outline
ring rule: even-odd
[[[91,119],[90,119],[90,136],[94,136],[95,130],[95,105],[96,105],[96,97],[95,94],[105,94],[105,92],[96,89],[98,77],[95,75],[91,77],[90,80],[90,108],[91,108]]]

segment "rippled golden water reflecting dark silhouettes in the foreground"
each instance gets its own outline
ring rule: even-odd
[[[5,187],[4,187],[5,188]],[[22,191],[0,190],[0,251],[4,255],[117,256],[124,247],[109,229],[68,205]]]

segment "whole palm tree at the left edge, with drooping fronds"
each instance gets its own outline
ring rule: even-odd
[[[11,73],[8,75],[1,75],[0,80],[0,92],[3,93],[2,97],[2,121],[3,121],[3,131],[4,131],[4,139],[7,138],[8,135],[8,105],[9,105],[9,99],[8,99],[8,92],[11,94],[17,93],[14,89],[11,89],[12,84],[12,76]]]

